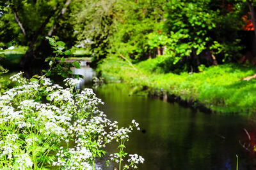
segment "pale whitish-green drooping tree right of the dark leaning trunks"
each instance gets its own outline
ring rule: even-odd
[[[111,0],[76,0],[76,10],[72,23],[76,30],[77,44],[90,49],[93,55],[92,63],[106,57],[108,36],[113,29],[117,1]],[[93,15],[92,15],[93,14]]]

